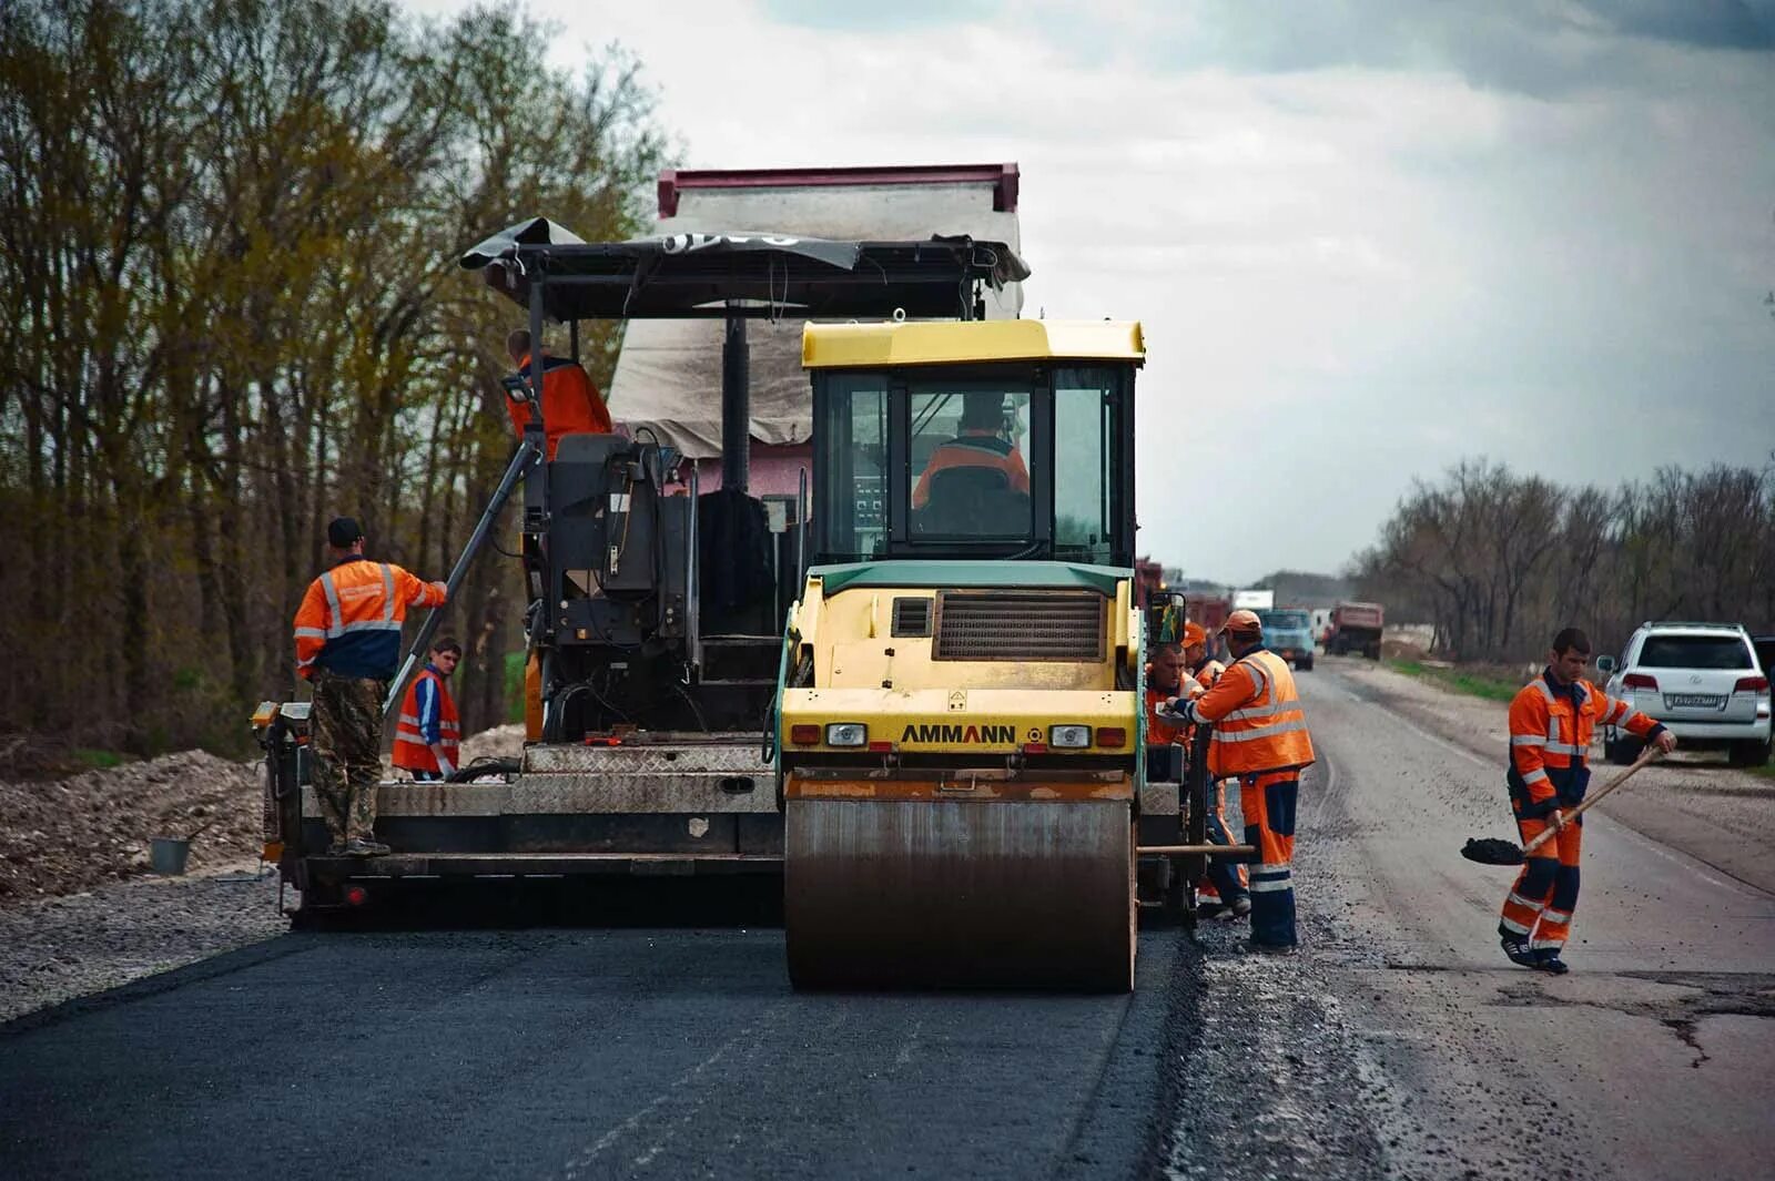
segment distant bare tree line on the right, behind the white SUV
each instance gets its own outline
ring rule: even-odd
[[[1647,619],[1775,631],[1775,461],[1608,489],[1468,459],[1415,481],[1349,573],[1456,660],[1535,660],[1567,624],[1599,654]]]

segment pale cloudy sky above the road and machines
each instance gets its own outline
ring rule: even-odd
[[[1145,323],[1191,576],[1335,571],[1464,456],[1775,450],[1775,0],[529,7],[639,55],[689,168],[1019,163],[1026,314]]]

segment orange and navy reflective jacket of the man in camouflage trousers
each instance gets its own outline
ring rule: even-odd
[[[392,562],[341,560],[309,583],[296,608],[296,672],[390,679],[408,605],[444,606],[444,594]]]

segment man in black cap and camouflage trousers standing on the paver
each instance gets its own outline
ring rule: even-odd
[[[382,778],[382,699],[401,658],[408,606],[444,606],[449,589],[392,562],[364,557],[364,530],[350,516],[327,525],[332,567],[309,583],[296,608],[296,672],[314,686],[311,715],[314,794],[332,837],[328,853],[373,856],[376,782]]]

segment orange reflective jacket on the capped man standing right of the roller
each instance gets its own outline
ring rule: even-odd
[[[1262,647],[1232,661],[1214,688],[1196,699],[1195,713],[1214,723],[1209,773],[1216,778],[1314,763],[1289,661]]]

